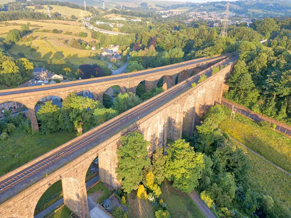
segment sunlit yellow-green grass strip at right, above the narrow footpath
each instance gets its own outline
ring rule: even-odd
[[[230,114],[230,110],[227,109]],[[291,139],[271,128],[263,128],[239,114],[221,122],[221,129],[279,167],[291,172]]]

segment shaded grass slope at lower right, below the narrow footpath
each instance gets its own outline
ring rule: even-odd
[[[238,147],[241,147],[237,144]],[[277,217],[291,218],[291,177],[279,171],[259,156],[241,147],[250,160],[249,185],[251,189],[270,195],[274,202]]]

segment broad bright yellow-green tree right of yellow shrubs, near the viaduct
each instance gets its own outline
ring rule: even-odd
[[[176,140],[168,145],[165,160],[165,177],[174,181],[173,187],[190,193],[198,186],[201,171],[205,167],[203,155],[195,153],[185,140]]]

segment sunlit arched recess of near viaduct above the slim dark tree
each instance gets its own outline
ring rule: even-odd
[[[156,147],[162,147],[166,141],[165,137],[165,120],[162,116],[156,116],[147,128],[146,140],[151,142],[151,147],[147,150],[152,153]]]

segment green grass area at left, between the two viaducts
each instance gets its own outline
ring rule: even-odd
[[[77,136],[75,132],[66,131],[31,136],[20,128],[9,135],[9,140],[0,140],[0,176]]]

